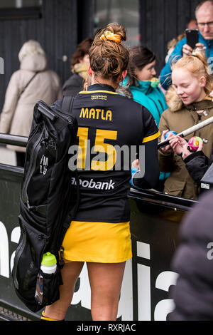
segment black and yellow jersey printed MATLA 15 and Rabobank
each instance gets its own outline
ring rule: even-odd
[[[72,115],[78,122],[77,155],[70,159],[69,166],[77,165],[81,186],[75,221],[129,221],[131,161],[138,158],[141,145],[148,151],[143,161],[145,175],[136,180],[136,185],[153,187],[158,181],[160,134],[153,116],[111,86],[99,84],[75,96]],[[74,177],[72,185],[76,185]]]

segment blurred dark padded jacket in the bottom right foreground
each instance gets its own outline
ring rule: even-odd
[[[170,294],[169,321],[213,321],[213,192],[202,195],[180,230],[172,269],[179,274]]]

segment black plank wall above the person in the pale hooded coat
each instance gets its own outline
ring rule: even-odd
[[[49,68],[62,83],[70,76],[70,57],[77,46],[77,0],[43,0],[41,19],[0,20],[0,57],[4,75],[0,75],[0,110],[11,74],[18,70],[18,52],[24,42],[40,42],[48,57]],[[62,61],[67,56],[67,61]]]

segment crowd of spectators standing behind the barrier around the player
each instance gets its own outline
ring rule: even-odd
[[[202,1],[197,6],[195,19],[190,20],[187,28],[199,31],[199,42],[192,49],[187,45],[185,32],[173,38],[173,41],[168,43],[168,55],[165,57],[165,66],[160,71],[160,76],[157,76],[155,71],[157,56],[153,51],[146,46],[129,48],[127,76],[117,90],[151,112],[160,130],[159,141],[164,139],[166,130],[180,133],[210,118],[213,113],[210,97],[213,1]],[[87,89],[88,53],[92,42],[92,38],[86,38],[77,46],[70,62],[71,76],[62,88],[57,74],[48,69],[43,48],[37,41],[26,42],[18,55],[20,70],[11,76],[6,91],[0,132],[28,136],[33,117],[31,106],[37,100],[45,100],[51,104],[62,95],[75,95]],[[181,80],[178,76],[181,76]],[[177,80],[178,84],[175,83]],[[45,89],[39,84],[41,81]],[[197,153],[191,153],[187,150],[187,141],[195,135],[202,138],[203,144]],[[197,199],[201,192],[200,180],[203,172],[212,161],[212,140],[212,125],[197,130],[185,140],[170,135],[170,145],[158,150],[160,177],[156,190],[168,195]],[[25,149],[8,148],[16,151],[17,165],[23,166]],[[197,177],[196,170],[199,168],[202,169],[202,173],[198,173]]]

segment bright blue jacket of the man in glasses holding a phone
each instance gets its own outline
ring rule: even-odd
[[[210,68],[213,67],[213,40],[206,40],[199,33],[199,42],[203,43],[206,47],[206,58]],[[182,57],[182,46],[186,44],[186,38],[182,38],[180,42],[175,46],[173,53],[171,53],[168,62],[165,64],[164,68],[160,72],[160,83],[165,90],[168,90],[171,85],[171,67],[172,61],[178,61],[178,58]]]

